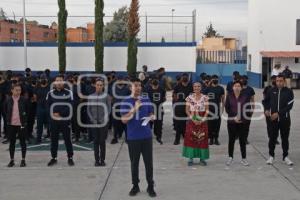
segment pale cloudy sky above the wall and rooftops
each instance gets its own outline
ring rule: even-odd
[[[1,0],[2,7],[8,16],[23,14],[23,0]],[[66,0],[69,16],[92,16],[94,0]],[[105,14],[110,16],[118,8],[130,5],[130,0],[105,0]],[[171,10],[175,9],[174,15],[190,16],[194,9],[197,10],[197,40],[200,40],[205,27],[212,22],[215,28],[226,37],[237,37],[245,44],[247,37],[247,0],[140,0],[140,15],[166,15],[171,16]],[[30,20],[37,20],[43,24],[56,21],[58,6],[57,0],[26,0],[26,15]],[[37,17],[52,16],[52,17]],[[109,21],[111,18],[106,18]],[[92,17],[69,17],[68,26],[85,26],[92,22]],[[148,21],[171,22],[170,18],[148,18]],[[174,18],[178,22],[191,22],[191,18]],[[185,41],[185,26],[187,40],[192,37],[191,25],[174,25],[174,40]],[[142,41],[145,40],[145,18],[141,18]],[[159,41],[162,37],[171,41],[171,25],[148,25],[148,39]]]

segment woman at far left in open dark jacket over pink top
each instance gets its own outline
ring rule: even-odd
[[[12,95],[6,99],[4,109],[6,113],[7,131],[9,137],[9,154],[10,162],[7,167],[15,165],[15,145],[16,139],[19,138],[22,161],[20,167],[26,167],[26,133],[27,133],[27,117],[28,117],[28,102],[25,97],[21,96],[21,85],[14,84],[11,87]]]

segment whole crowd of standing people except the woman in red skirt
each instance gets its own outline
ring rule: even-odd
[[[249,128],[255,109],[255,91],[248,85],[248,77],[238,72],[233,73],[233,80],[227,84],[226,91],[219,80],[217,75],[203,73],[198,81],[201,83],[201,93],[206,95],[209,101],[209,120],[207,120],[209,144],[220,145],[219,132],[225,110],[228,114],[229,134],[229,159],[226,164],[232,164],[234,144],[239,139],[242,164],[248,166],[246,145],[249,144]],[[11,160],[8,167],[15,165],[16,139],[20,140],[22,150],[21,167],[26,166],[27,143],[40,144],[46,139],[51,141],[51,160],[48,166],[55,165],[60,133],[63,135],[70,166],[74,165],[72,143],[80,140],[94,144],[95,166],[105,166],[106,139],[108,130],[112,129],[111,144],[118,143],[124,134],[129,146],[134,185],[130,195],[135,196],[140,191],[138,162],[142,155],[146,166],[147,191],[154,197],[156,193],[153,189],[151,129],[157,142],[163,144],[163,104],[167,99],[166,91],[169,89],[173,89],[173,125],[176,132],[174,145],[179,145],[181,137],[184,138],[188,120],[185,110],[186,98],[193,93],[190,74],[179,74],[171,88],[165,77],[164,68],[150,73],[147,66],[143,66],[143,71],[135,76],[122,76],[110,72],[103,77],[81,78],[79,73],[61,73],[52,77],[50,70],[33,75],[29,68],[25,70],[25,74],[9,70],[1,73],[0,122],[4,124],[3,132],[0,134],[5,139],[3,143],[10,144]],[[293,102],[293,92],[285,87],[284,75],[272,77],[272,85],[265,88],[263,100],[269,136],[268,164],[273,164],[279,132],[283,160],[288,165],[293,164],[288,158],[291,124],[289,112]],[[240,112],[238,107],[241,105]],[[244,110],[246,112],[243,112]],[[36,134],[34,134],[35,124]]]

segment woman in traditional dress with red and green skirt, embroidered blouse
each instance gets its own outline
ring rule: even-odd
[[[186,98],[186,114],[189,121],[186,125],[183,157],[188,158],[188,165],[193,165],[194,158],[200,158],[200,165],[206,166],[209,158],[208,128],[208,97],[201,93],[201,83],[193,84],[193,94]]]

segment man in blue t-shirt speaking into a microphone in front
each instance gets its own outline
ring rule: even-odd
[[[127,142],[133,184],[129,195],[136,196],[140,192],[139,161],[142,155],[148,182],[147,192],[150,197],[156,197],[153,180],[152,132],[149,123],[145,123],[145,120],[154,119],[153,106],[149,98],[141,96],[142,83],[139,79],[131,80],[130,90],[131,96],[126,98],[121,105],[121,120],[127,124]]]

